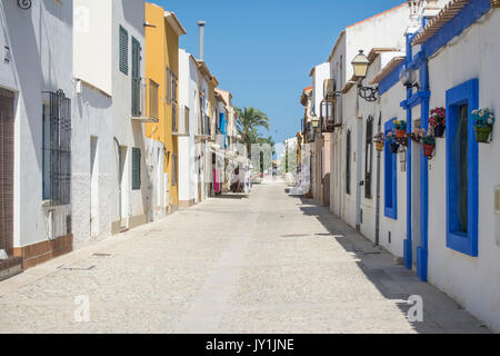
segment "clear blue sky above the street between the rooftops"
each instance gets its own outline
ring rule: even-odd
[[[347,26],[403,0],[152,0],[178,16],[180,46],[198,58],[198,20],[206,20],[204,59],[237,107],[271,118],[276,142],[300,130],[301,90]]]

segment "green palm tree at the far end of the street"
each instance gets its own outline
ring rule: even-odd
[[[247,146],[247,151],[250,157],[251,145],[257,144],[260,135],[259,128],[264,128],[269,131],[270,119],[266,113],[256,108],[236,108],[238,113],[237,129],[240,135],[241,144]],[[272,139],[271,139],[272,140]]]

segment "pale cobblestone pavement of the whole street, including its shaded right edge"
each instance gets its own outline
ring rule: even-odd
[[[209,199],[0,283],[0,333],[489,333],[286,188]]]

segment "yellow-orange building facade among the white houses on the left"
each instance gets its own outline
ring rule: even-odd
[[[163,170],[168,174],[170,212],[179,205],[179,37],[186,30],[173,12],[146,3],[147,110],[156,119],[146,123],[146,136],[164,145]]]

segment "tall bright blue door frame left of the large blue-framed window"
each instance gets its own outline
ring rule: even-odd
[[[420,89],[412,93],[412,89],[407,90],[407,100],[401,102],[401,107],[407,110],[407,130],[412,130],[412,108],[420,105],[421,128],[428,129],[429,119],[429,72],[428,61],[424,58],[424,46],[422,50],[412,56],[411,42],[414,34],[407,36],[407,59],[406,68],[412,68],[420,71]],[[412,142],[409,140],[407,149],[407,239],[403,241],[404,267],[407,269],[413,268],[413,258],[417,258],[417,276],[427,281],[428,276],[428,231],[429,231],[429,161],[428,158],[420,152],[420,177],[412,175]],[[417,247],[417,256],[413,257],[412,250],[412,179],[420,179],[420,231],[421,244]]]

